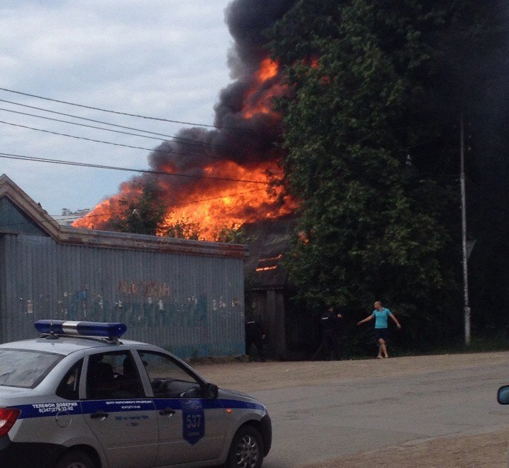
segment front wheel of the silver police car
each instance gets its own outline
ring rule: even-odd
[[[261,468],[263,440],[251,425],[240,428],[231,441],[226,468]]]

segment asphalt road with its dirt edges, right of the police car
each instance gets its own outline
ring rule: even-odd
[[[505,466],[508,352],[195,367],[266,403],[264,468]]]

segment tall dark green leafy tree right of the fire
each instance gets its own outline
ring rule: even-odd
[[[285,177],[301,202],[288,267],[308,305],[380,298],[411,338],[460,329],[449,163],[505,31],[500,5],[301,0],[271,31],[290,87],[278,102]]]

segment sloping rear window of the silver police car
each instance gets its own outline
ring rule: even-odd
[[[34,388],[60,359],[60,354],[0,349],[0,386]]]

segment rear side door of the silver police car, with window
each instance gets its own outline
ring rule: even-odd
[[[109,468],[152,468],[158,422],[145,398],[131,352],[90,354],[84,418],[102,445]]]

